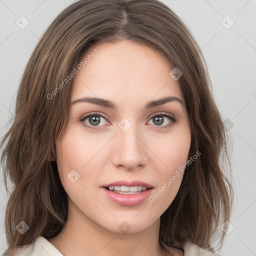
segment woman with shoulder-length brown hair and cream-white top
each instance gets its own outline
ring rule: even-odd
[[[160,1],[63,10],[27,63],[3,144],[4,256],[215,255],[223,241],[222,118],[197,43]]]

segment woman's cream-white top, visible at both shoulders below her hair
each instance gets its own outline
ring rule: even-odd
[[[162,243],[163,246],[170,251],[169,246]],[[219,256],[218,254],[204,250],[197,245],[186,242],[183,246],[184,256]],[[56,247],[53,246],[43,236],[38,236],[34,243],[23,245],[17,248],[14,256],[63,256]]]

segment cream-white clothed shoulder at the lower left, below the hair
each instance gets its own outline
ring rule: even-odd
[[[16,248],[13,256],[63,256],[46,238],[38,236],[34,243]]]

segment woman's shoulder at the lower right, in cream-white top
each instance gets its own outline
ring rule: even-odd
[[[191,243],[191,242],[186,242],[183,245],[183,251],[184,254],[181,253],[180,249],[176,249],[173,247],[169,247],[167,246],[165,243],[161,242],[163,244],[163,246],[171,253],[173,253],[174,255],[184,255],[184,256],[220,256],[219,254],[210,252],[208,250],[205,250],[201,247],[198,247],[196,244]]]

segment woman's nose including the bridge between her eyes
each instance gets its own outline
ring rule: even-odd
[[[125,118],[118,123],[113,164],[128,169],[145,164],[145,148],[139,137],[135,124]]]

